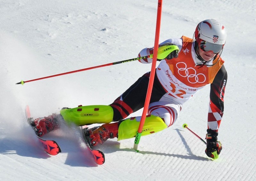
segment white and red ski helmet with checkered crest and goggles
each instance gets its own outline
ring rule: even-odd
[[[206,19],[197,25],[195,39],[203,51],[212,50],[213,53],[219,53],[225,45],[227,33],[219,21]]]

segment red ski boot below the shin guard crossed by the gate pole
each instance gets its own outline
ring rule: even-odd
[[[108,138],[118,138],[118,123],[103,124],[100,127],[84,128],[85,141],[92,148]]]

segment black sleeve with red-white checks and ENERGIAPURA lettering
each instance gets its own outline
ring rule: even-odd
[[[215,76],[210,91],[210,103],[208,111],[208,129],[218,132],[224,112],[224,93],[227,84],[228,74],[222,65]]]

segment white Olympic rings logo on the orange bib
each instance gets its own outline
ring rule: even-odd
[[[189,83],[204,83],[206,81],[204,74],[196,74],[196,70],[191,67],[187,69],[187,64],[184,62],[178,62],[176,67],[178,68],[179,75],[187,77]]]

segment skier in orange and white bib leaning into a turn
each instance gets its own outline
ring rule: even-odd
[[[196,26],[193,39],[182,36],[169,39],[159,46],[176,45],[179,52],[172,52],[160,61],[156,68],[153,90],[142,135],[159,132],[177,120],[182,104],[205,85],[211,84],[208,112],[207,148],[205,153],[214,157],[222,149],[217,140],[222,119],[223,97],[227,84],[227,72],[220,58],[226,41],[226,31],[219,21],[207,19]],[[139,56],[153,54],[153,48],[144,48]],[[139,60],[151,63],[151,58]],[[118,140],[133,138],[138,130],[141,116],[127,118],[144,106],[150,72],[140,77],[130,88],[110,105],[88,105],[76,108],[63,108],[60,114],[34,120],[37,134],[44,134],[59,127],[64,120],[77,126],[104,123],[100,127],[87,130],[91,147],[105,142],[108,138]],[[111,123],[113,122],[113,123]]]

